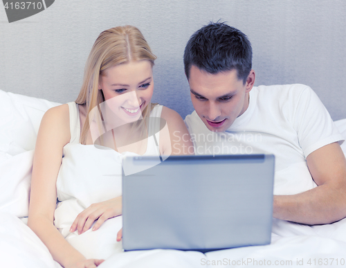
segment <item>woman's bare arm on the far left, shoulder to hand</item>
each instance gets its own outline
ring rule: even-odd
[[[54,260],[64,267],[96,267],[101,260],[86,260],[55,228],[56,180],[62,149],[70,140],[69,106],[49,109],[42,118],[34,154],[28,226],[46,244]],[[79,262],[79,263],[78,263]]]

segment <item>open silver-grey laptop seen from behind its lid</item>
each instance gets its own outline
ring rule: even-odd
[[[270,244],[273,154],[125,157],[122,247],[207,252]]]

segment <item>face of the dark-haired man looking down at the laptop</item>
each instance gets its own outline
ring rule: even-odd
[[[224,132],[248,108],[248,92],[254,82],[253,70],[244,84],[235,69],[211,74],[192,65],[189,78],[192,105],[209,130]]]

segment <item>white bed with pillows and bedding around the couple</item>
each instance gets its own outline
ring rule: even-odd
[[[44,112],[55,105],[0,91],[1,267],[61,267],[26,226],[35,139]],[[346,138],[346,119],[335,123]],[[345,144],[342,148],[346,152]],[[346,219],[318,226],[273,219],[272,231],[266,246],[204,254],[162,249],[122,252],[99,267],[346,267]]]

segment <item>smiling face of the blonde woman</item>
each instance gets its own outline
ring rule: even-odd
[[[141,119],[154,89],[152,64],[140,60],[113,66],[100,76],[99,89],[105,98],[104,107],[111,111],[111,120],[131,123]]]

